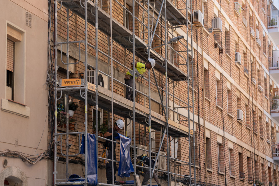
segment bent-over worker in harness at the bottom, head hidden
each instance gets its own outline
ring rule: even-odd
[[[142,154],[142,155],[137,156],[136,159],[137,159],[137,163],[136,163],[137,165],[139,165],[139,166],[145,166],[145,167],[146,167],[146,168],[140,168],[140,167],[139,167],[139,168],[137,168],[136,170],[137,170],[137,174],[142,173],[143,176],[144,176],[144,179],[142,180],[141,185],[147,185],[147,184],[148,184],[148,179],[149,179],[149,174],[150,174],[150,171],[149,171],[149,169],[150,169],[150,167],[149,167],[149,165],[150,165],[150,159],[149,159],[149,157],[148,157],[147,155],[145,155],[145,154]],[[153,167],[154,167],[154,163],[155,163],[155,160],[151,160],[152,169],[153,169]],[[157,167],[157,162],[156,162],[155,167]],[[142,170],[142,172],[141,172],[141,170]],[[156,172],[153,173],[152,177],[153,177],[154,180],[156,181],[157,185],[158,185],[158,186],[161,186],[161,184],[160,184],[160,182],[159,182],[159,180],[158,180],[158,177],[157,177]]]

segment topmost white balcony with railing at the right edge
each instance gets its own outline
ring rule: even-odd
[[[279,45],[279,17],[268,16],[268,34],[272,37],[276,45]]]

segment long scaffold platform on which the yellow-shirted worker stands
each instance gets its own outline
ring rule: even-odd
[[[66,86],[65,86],[66,87]],[[60,91],[59,88],[64,88],[60,86],[57,88],[57,91]],[[63,93],[73,96],[74,98],[84,100],[81,97],[79,90],[63,90]],[[96,92],[88,90],[88,104],[95,105],[95,95]],[[113,103],[113,113],[122,116],[124,118],[132,118],[133,116],[133,102],[122,97],[119,94],[113,93],[113,99],[111,91],[99,86],[98,88],[98,107],[106,111],[112,111]],[[149,109],[135,103],[135,120],[136,122],[148,126],[148,116]],[[161,130],[161,127],[166,126],[166,117],[155,112],[151,111],[151,128],[157,131]],[[173,137],[186,137],[188,136],[188,127],[180,125],[174,121],[168,120],[169,123],[169,134]],[[191,133],[190,133],[191,134]]]

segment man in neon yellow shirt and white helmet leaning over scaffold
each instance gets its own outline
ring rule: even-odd
[[[133,65],[133,63],[131,63]],[[135,79],[139,77],[139,75],[143,75],[143,73],[147,70],[150,70],[155,66],[154,59],[148,59],[146,63],[135,62]],[[133,87],[133,70],[129,70],[124,78],[125,84]],[[133,101],[133,89],[130,87],[126,87],[126,98],[130,101]],[[136,89],[136,85],[135,85]],[[135,97],[137,96],[137,92],[135,92]]]

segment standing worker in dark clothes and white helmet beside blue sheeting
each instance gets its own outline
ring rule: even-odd
[[[113,134],[113,141],[116,141],[115,137],[118,136],[117,131],[123,129],[123,127],[124,127],[123,120],[117,120],[114,123],[113,128],[108,129],[108,131],[104,134],[104,138],[112,140],[112,134]],[[112,153],[113,153],[113,160],[116,160],[116,154],[115,154],[116,143],[113,144],[113,148],[112,148],[112,142],[106,140],[106,143],[104,146],[108,147],[107,159],[112,160]],[[112,173],[112,169],[113,169],[113,173]],[[112,176],[114,177],[114,181],[116,180],[115,173],[116,173],[116,162],[107,161],[106,174],[107,174],[107,183],[108,184],[112,184],[112,182],[113,182]],[[115,182],[115,184],[118,185],[117,182]]]

